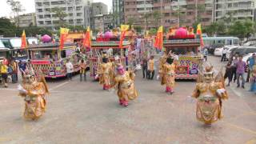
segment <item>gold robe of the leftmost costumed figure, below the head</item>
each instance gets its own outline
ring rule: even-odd
[[[43,82],[24,83],[22,85],[28,94],[19,95],[25,97],[24,117],[38,119],[46,111],[46,93],[47,88]]]

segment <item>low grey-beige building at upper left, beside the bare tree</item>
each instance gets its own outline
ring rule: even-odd
[[[37,23],[34,13],[22,14],[19,16],[19,27],[36,26],[36,24]]]

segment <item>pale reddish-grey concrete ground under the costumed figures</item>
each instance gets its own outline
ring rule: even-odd
[[[219,69],[223,63],[210,57]],[[0,143],[256,143],[256,95],[227,88],[224,118],[211,127],[195,117],[196,101],[189,96],[195,82],[177,82],[175,93],[164,93],[157,80],[142,79],[138,71],[138,99],[118,106],[114,91],[103,91],[98,82],[49,82],[46,114],[38,121],[22,118],[24,101],[17,85],[0,89]],[[246,85],[248,89],[249,84]]]

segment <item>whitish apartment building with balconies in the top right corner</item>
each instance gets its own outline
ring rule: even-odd
[[[228,15],[234,19],[255,20],[256,0],[214,0],[214,21]]]

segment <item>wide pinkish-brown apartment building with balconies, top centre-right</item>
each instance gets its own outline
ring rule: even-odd
[[[125,22],[150,29],[158,26],[192,26],[196,20],[210,25],[214,0],[125,0]]]

